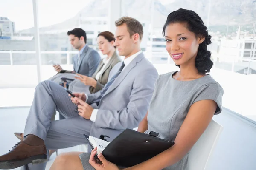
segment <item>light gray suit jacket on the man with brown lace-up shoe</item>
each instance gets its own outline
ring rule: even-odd
[[[119,62],[113,67],[108,81],[116,74],[121,64],[122,62]],[[108,141],[112,141],[126,128],[138,127],[148,110],[157,77],[157,70],[141,53],[114,80],[102,96],[98,107],[92,102],[104,88],[95,94],[88,94],[87,103],[92,103],[93,108],[99,109],[90,136],[99,138],[104,134],[110,136]]]

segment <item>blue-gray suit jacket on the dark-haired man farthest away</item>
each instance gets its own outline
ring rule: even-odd
[[[73,58],[74,71],[76,71],[76,73],[91,77],[99,65],[100,56],[97,51],[86,45],[80,56],[79,63],[77,62],[78,56],[76,55]]]

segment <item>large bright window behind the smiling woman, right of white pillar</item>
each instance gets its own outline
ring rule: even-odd
[[[168,14],[179,8],[195,11],[212,36],[208,50],[212,53],[214,67],[210,74],[224,88],[223,106],[256,121],[253,100],[256,96],[255,6],[253,0],[123,0],[122,15],[148,23],[143,35],[147,40],[146,55],[158,67],[157,63],[166,63],[166,58],[169,58],[163,48],[165,41],[162,36]],[[160,73],[178,69],[174,64],[168,67],[160,65],[157,68]]]

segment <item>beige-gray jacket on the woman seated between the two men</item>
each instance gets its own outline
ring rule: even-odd
[[[97,85],[94,88],[93,86],[90,86],[90,93],[96,93],[97,91],[101,90],[105,84],[108,82],[108,75],[111,71],[111,69],[118,63],[121,62],[122,59],[119,57],[118,54],[116,54],[116,51],[112,55],[111,59],[109,60],[108,64],[105,66],[104,70],[102,71],[102,74],[99,76],[99,79],[97,80]],[[102,69],[104,65],[103,59],[100,61],[99,66],[95,73],[93,74],[92,78],[95,79],[98,72]]]

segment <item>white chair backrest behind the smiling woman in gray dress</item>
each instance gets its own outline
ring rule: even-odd
[[[205,170],[223,127],[212,120],[189,153],[188,170]]]

